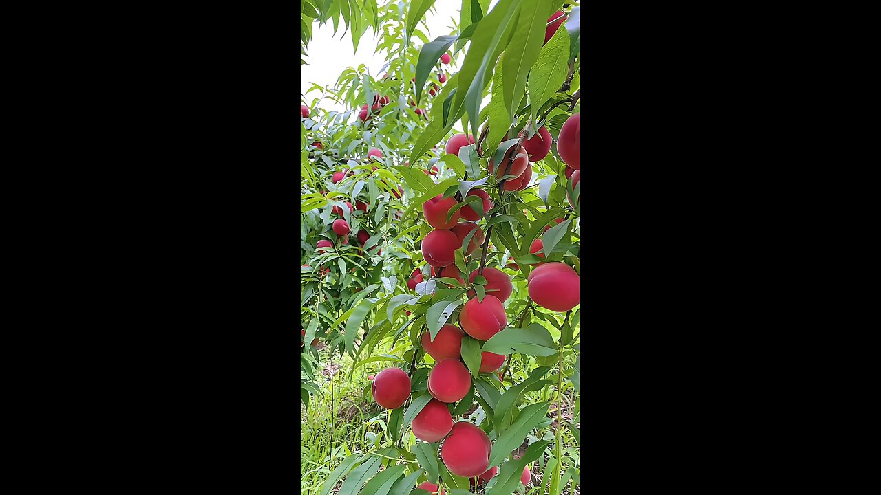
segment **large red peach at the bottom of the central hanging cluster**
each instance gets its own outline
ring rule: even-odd
[[[453,425],[441,446],[441,460],[459,477],[477,477],[490,467],[492,443],[486,433],[471,423]]]

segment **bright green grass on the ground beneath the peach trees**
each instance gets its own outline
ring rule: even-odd
[[[384,346],[384,347],[383,347]],[[321,344],[320,344],[321,347]],[[376,353],[388,352],[395,354],[395,350],[389,349],[389,344],[383,343]],[[333,358],[329,355],[329,349],[319,351],[321,367],[317,370],[315,378],[320,390],[320,395],[313,395],[309,408],[300,403],[300,493],[303,495],[318,495],[322,491],[322,485],[329,477],[333,469],[340,462],[352,454],[366,454],[376,451],[383,443],[388,443],[386,427],[389,420],[389,411],[381,408],[370,395],[370,380],[367,375],[375,375],[381,369],[389,366],[389,363],[374,362],[355,370],[352,380],[349,373],[352,371],[352,358],[348,355],[340,357],[339,353]],[[564,358],[564,367],[569,370],[574,365],[574,357]],[[510,366],[510,375],[505,376],[507,386],[511,385],[510,376],[515,383],[526,378],[526,369],[537,366],[535,358],[518,356]],[[502,369],[505,369],[504,367]],[[568,374],[568,373],[566,373]],[[552,370],[547,377],[557,383],[557,374]],[[560,415],[564,425],[572,420],[578,411],[578,402],[574,396],[572,385],[565,382],[559,395]],[[523,404],[536,403],[539,401],[551,401],[552,405],[548,412],[548,418],[552,424],[537,430],[537,437],[530,436],[524,442],[522,448],[515,450],[514,455],[522,454],[528,443],[537,440],[553,440],[557,424],[557,390],[556,387],[546,387],[524,395]],[[482,417],[482,409],[474,411],[476,417]],[[563,466],[560,469],[561,477],[577,474],[580,469],[578,457],[578,445],[573,433],[566,427],[560,432],[561,457]],[[403,434],[402,447],[410,449],[416,443],[415,437],[409,429]],[[531,484],[527,486],[526,495],[544,494],[549,486],[549,476],[553,464],[556,461],[552,457],[543,456],[533,463],[533,477]],[[568,477],[566,475],[568,474]],[[420,482],[424,478],[420,478]],[[336,493],[339,484],[330,493]],[[478,488],[475,495],[484,492]],[[561,493],[578,495],[578,487],[567,484],[562,487]]]

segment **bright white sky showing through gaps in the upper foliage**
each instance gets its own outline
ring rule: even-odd
[[[493,0],[490,3],[490,10],[492,10],[496,2],[498,0]],[[435,11],[426,12],[425,17],[426,25],[428,26],[428,33],[426,33],[428,39],[433,40],[438,36],[451,34],[452,29],[449,27],[453,26],[451,18],[455,18],[458,21],[461,8],[462,0],[437,0],[434,2]],[[340,18],[336,36],[333,34],[333,21],[328,21],[326,26],[319,26],[318,23],[314,23],[313,29],[312,40],[309,41],[309,46],[306,48],[308,55],[303,57],[308,65],[300,66],[302,70],[300,76],[301,93],[306,92],[312,83],[322,86],[334,85],[343,70],[347,67],[357,68],[361,63],[367,66],[374,77],[381,75],[380,70],[385,64],[383,59],[385,52],[381,51],[374,55],[373,51],[376,49],[376,43],[374,41],[373,28],[367,29],[359,41],[357,54],[352,53],[352,34],[348,32],[343,34],[345,26],[342,18]],[[420,29],[424,30],[421,27]],[[415,40],[419,43],[422,42],[418,38]],[[458,63],[461,65],[462,55],[458,56],[460,57]],[[306,96],[307,100],[319,98],[321,92],[309,92]],[[322,108],[336,110],[337,112],[345,110],[344,107],[337,105],[337,103],[331,100],[323,100]]]

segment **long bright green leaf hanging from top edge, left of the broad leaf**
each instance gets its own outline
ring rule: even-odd
[[[502,94],[509,120],[514,119],[515,102],[526,91],[526,75],[542,49],[547,18],[555,4],[556,0],[533,0],[520,5],[511,43],[505,49],[503,78],[507,85]]]

